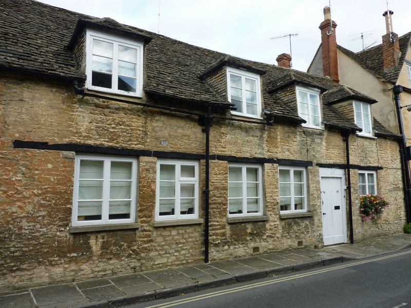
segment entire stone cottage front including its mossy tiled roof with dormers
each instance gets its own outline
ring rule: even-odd
[[[0,8],[2,290],[401,232],[401,136],[353,118],[375,99],[110,18]],[[390,203],[380,218],[361,221],[364,193]]]

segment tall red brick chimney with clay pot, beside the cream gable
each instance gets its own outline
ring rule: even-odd
[[[337,38],[335,28],[337,24],[331,21],[331,11],[328,6],[324,7],[324,21],[320,24],[321,47],[323,50],[323,73],[330,76],[334,82],[339,82],[338,59],[337,59]]]

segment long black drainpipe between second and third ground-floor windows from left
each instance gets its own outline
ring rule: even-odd
[[[209,209],[210,209],[210,127],[213,125],[211,117],[211,106],[207,109],[206,117],[199,118],[200,125],[203,125],[203,132],[206,133],[206,187],[204,189],[204,263],[209,262]]]

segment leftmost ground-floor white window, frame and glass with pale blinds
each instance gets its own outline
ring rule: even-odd
[[[137,159],[76,156],[72,225],[135,222]]]

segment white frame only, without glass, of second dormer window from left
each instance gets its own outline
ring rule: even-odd
[[[231,114],[240,115],[242,117],[254,118],[254,119],[263,119],[261,118],[261,85],[260,85],[260,75],[250,73],[244,70],[235,69],[232,67],[227,67],[227,91],[228,91],[228,100],[231,103],[231,84],[230,84],[230,74],[237,75],[241,77],[241,86],[242,86],[242,110],[243,112],[238,112],[236,110],[231,110]],[[257,102],[257,114],[247,113],[247,100],[246,100],[246,78],[256,81],[256,102]]]

